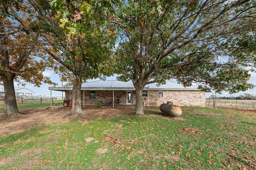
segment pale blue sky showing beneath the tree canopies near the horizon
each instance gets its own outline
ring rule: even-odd
[[[54,72],[47,70],[44,72],[44,76],[50,77],[50,79],[56,83],[58,83],[58,85],[56,87],[61,87],[62,83],[63,86],[66,84],[66,82],[61,82],[60,81],[60,77],[59,75],[55,74]],[[107,77],[106,80],[116,80],[116,76],[112,76],[112,77]],[[93,80],[87,80],[88,82],[93,81]],[[249,83],[255,84],[256,85],[256,73],[251,73],[251,78],[248,81]],[[32,92],[35,92],[36,96],[50,96],[51,95],[51,90],[48,90],[49,87],[52,87],[52,85],[49,84],[42,84],[40,86],[40,88],[35,87],[33,84],[27,83],[25,82],[26,85],[24,86],[25,88],[31,90]],[[18,88],[21,86],[18,86],[17,82],[14,82],[14,88]],[[3,86],[0,86],[0,88],[3,88]],[[1,90],[1,89],[0,89]],[[248,94],[252,94],[253,96],[256,96],[256,87],[250,90],[246,90],[244,92],[239,92],[236,94],[229,94],[228,92],[224,92],[222,94],[219,95],[220,96],[240,96],[240,95],[244,95],[244,93],[248,93]],[[63,93],[63,96],[65,95],[65,93]],[[206,93],[206,98],[208,98],[210,95],[212,95],[211,93]],[[62,96],[62,92],[58,92],[58,91],[54,91],[52,90],[52,96]]]

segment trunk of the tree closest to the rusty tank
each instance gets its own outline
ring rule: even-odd
[[[143,101],[142,101],[142,93],[143,93],[144,86],[141,84],[136,84],[136,115],[144,115],[143,111]]]

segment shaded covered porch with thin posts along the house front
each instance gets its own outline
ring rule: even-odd
[[[113,85],[113,84],[112,84]],[[83,87],[81,88],[82,107],[94,107],[96,103],[101,107],[135,107],[136,95],[134,87]],[[49,90],[65,92],[65,99],[72,100],[72,87],[49,87]],[[144,105],[148,106],[148,88],[144,88],[147,96]]]

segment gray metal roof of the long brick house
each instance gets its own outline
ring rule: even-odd
[[[68,87],[49,87],[49,90],[72,90]],[[96,80],[82,84],[81,90],[135,90],[132,81],[122,82],[118,80]],[[166,81],[166,84],[157,86],[157,83],[147,84],[144,90],[199,90],[197,86],[184,87],[176,82]]]

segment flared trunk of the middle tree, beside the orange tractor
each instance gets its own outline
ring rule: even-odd
[[[72,119],[83,119],[86,115],[82,111],[81,107],[81,86],[82,76],[76,75],[76,79],[73,86],[72,108],[71,112],[67,116]]]

